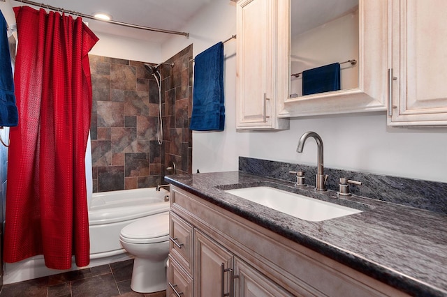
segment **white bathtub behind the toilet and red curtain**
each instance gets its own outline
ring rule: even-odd
[[[169,201],[165,201],[168,194],[163,188],[159,192],[155,188],[142,188],[94,193],[89,201],[89,267],[131,259],[119,243],[119,232],[138,218],[169,211]],[[77,269],[73,260],[72,268],[67,271]],[[47,268],[39,255],[6,263],[3,284],[62,272]]]

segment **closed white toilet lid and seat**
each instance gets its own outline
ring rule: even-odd
[[[169,240],[169,213],[149,215],[128,224],[119,238],[126,243],[160,243]]]

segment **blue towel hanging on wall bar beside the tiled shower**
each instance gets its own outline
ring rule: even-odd
[[[194,59],[193,111],[189,128],[223,131],[223,43],[217,43]]]

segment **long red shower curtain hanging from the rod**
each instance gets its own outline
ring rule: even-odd
[[[80,17],[15,7],[4,261],[43,254],[54,269],[89,264],[85,149],[91,116],[88,52],[98,38]]]

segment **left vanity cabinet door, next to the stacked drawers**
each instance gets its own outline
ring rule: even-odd
[[[194,230],[194,296],[233,296],[233,254]]]

